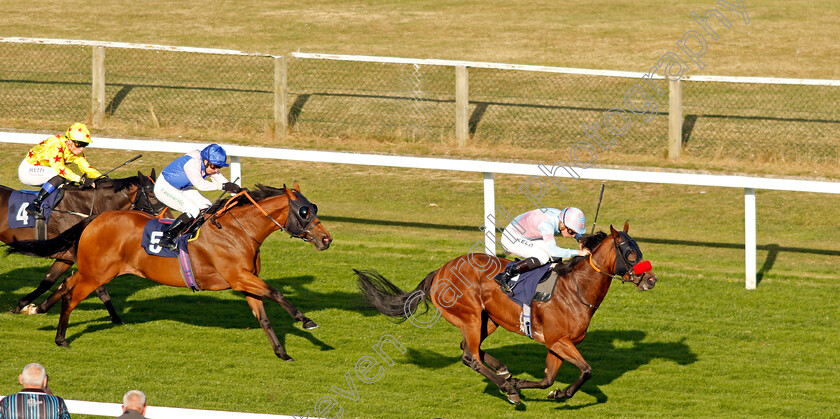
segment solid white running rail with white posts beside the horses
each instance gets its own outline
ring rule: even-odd
[[[0,143],[35,144],[43,139],[44,134],[0,132]],[[96,141],[94,141],[91,145],[92,148],[172,153],[186,153],[206,145],[200,143],[99,137],[95,138],[95,140]],[[482,216],[481,224],[486,227],[486,231],[495,231],[496,229],[496,197],[494,182],[494,175],[496,173],[531,176],[532,178],[536,178],[538,180],[546,177],[571,178],[571,175],[565,170],[546,168],[545,166],[535,164],[427,157],[384,156],[375,154],[292,150],[284,148],[248,147],[239,145],[224,145],[224,148],[228,155],[231,156],[230,171],[232,179],[236,179],[237,177],[241,178],[242,176],[242,165],[240,163],[240,159],[242,157],[482,173],[484,175],[484,214]],[[837,182],[598,168],[576,168],[575,172],[580,176],[580,179],[743,189],[744,240],[746,251],[745,284],[747,289],[755,289],[756,287],[756,189],[840,194],[840,183]],[[496,236],[485,235],[485,246],[488,252],[494,252],[496,249]]]

